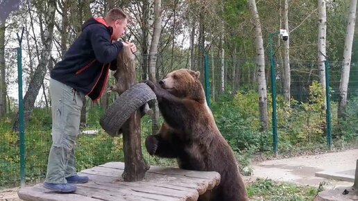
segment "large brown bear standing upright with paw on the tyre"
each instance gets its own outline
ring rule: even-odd
[[[199,76],[199,71],[179,69],[159,85],[145,81],[157,96],[164,118],[160,132],[146,138],[146,150],[150,155],[176,158],[183,169],[218,172],[219,186],[198,200],[248,200],[237,161],[207,107]]]

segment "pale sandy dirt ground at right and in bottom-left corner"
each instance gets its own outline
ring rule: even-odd
[[[250,183],[257,177],[268,178],[280,182],[293,182],[300,185],[316,186],[323,182],[325,189],[334,189],[338,186],[352,186],[352,182],[329,180],[316,177],[316,172],[342,172],[355,170],[358,159],[358,149],[342,152],[330,152],[322,155],[309,155],[259,161],[253,163],[253,176],[244,177],[244,182]],[[17,191],[19,188],[0,190],[0,201],[19,201]]]

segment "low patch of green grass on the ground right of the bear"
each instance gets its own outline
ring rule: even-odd
[[[246,186],[248,197],[258,200],[313,200],[318,193],[310,186],[297,186],[286,182],[273,182],[272,180],[257,179]]]

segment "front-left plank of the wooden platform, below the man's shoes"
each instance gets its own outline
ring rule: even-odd
[[[100,201],[94,198],[88,198],[83,195],[74,193],[55,193],[51,190],[44,189],[42,184],[36,184],[35,186],[26,187],[20,189],[17,193],[22,200],[37,200],[37,201]]]

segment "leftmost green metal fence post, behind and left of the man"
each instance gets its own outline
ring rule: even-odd
[[[24,28],[22,28],[22,35],[19,37],[17,33],[17,40],[19,40],[19,47],[17,48],[17,80],[19,83],[19,152],[20,152],[20,185],[25,187],[25,132],[24,132],[24,103],[22,98],[22,36],[24,35]]]

